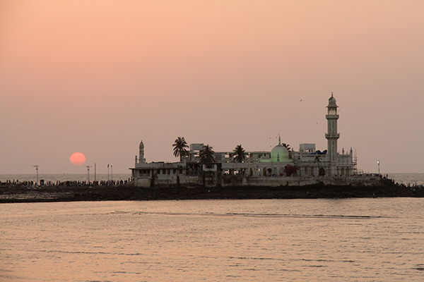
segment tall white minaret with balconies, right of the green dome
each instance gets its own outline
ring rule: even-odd
[[[330,161],[330,171],[327,176],[334,176],[337,174],[337,140],[340,137],[340,134],[337,133],[337,105],[336,99],[333,97],[333,92],[331,92],[331,97],[329,99],[329,105],[327,106],[328,113],[325,118],[327,119],[327,133],[325,134],[327,140],[327,150],[329,152],[329,161]]]

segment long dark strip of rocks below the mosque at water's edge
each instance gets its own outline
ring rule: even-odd
[[[211,199],[319,199],[352,197],[424,197],[423,185],[351,186],[314,184],[279,187],[162,187],[45,186],[41,188],[0,187],[0,203],[75,202],[122,200],[211,200]]]

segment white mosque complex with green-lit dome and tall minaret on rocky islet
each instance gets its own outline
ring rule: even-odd
[[[144,144],[141,141],[139,156],[136,156],[135,166],[131,169],[134,184],[141,187],[155,185],[304,185],[331,180],[332,182],[352,179],[357,174],[356,158],[352,148],[338,152],[337,133],[338,111],[336,99],[331,93],[326,106],[327,149],[316,150],[315,144],[302,143],[299,150],[288,149],[281,144],[271,149],[271,152],[245,152],[242,162],[235,161],[235,153],[215,152],[215,161],[202,164],[200,152],[204,144],[189,145],[187,154],[180,161],[146,162]],[[349,180],[351,183],[352,180]]]

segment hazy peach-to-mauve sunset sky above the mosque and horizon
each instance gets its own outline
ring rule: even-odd
[[[0,174],[129,173],[172,144],[424,173],[424,1],[0,1]],[[69,161],[74,152],[86,163]]]

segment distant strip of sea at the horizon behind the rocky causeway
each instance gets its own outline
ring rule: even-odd
[[[130,173],[117,173],[113,175],[113,180],[128,180],[131,177]],[[56,182],[66,181],[66,180],[88,180],[87,174],[40,174],[39,179],[44,179],[47,183],[48,181]],[[98,173],[96,175],[97,180],[109,180],[111,175],[107,173]],[[401,183],[405,185],[424,185],[424,173],[389,173],[389,178],[394,179],[396,183]],[[0,182],[6,182],[6,180],[20,180],[20,181],[36,181],[37,176],[35,174],[0,174]],[[90,181],[94,180],[94,175],[90,174]]]

